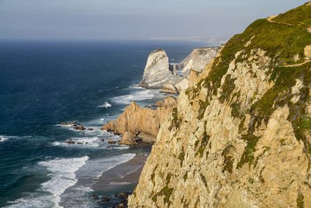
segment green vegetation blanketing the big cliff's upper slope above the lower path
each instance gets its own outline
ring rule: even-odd
[[[232,89],[234,89],[234,79],[231,79],[230,75],[227,75],[223,86],[221,86],[221,79],[226,74],[229,64],[236,58],[235,55],[238,51],[240,51],[240,55],[236,58],[236,62],[245,61],[245,57],[250,57],[254,50],[261,49],[265,51],[265,56],[268,56],[272,60],[269,63],[263,63],[269,64],[270,70],[267,73],[271,73],[272,69],[284,64],[303,62],[305,57],[304,48],[311,44],[311,33],[305,29],[308,27],[307,25],[311,26],[310,8],[310,6],[301,6],[273,19],[274,21],[284,21],[293,25],[274,23],[267,21],[267,19],[258,19],[249,25],[243,33],[232,37],[224,45],[224,49],[220,52],[221,55],[215,58],[208,77],[197,83],[196,88],[192,90],[193,98],[195,98],[202,87],[206,87],[210,95],[216,95],[217,89],[221,87],[220,101],[230,100]],[[250,44],[245,47],[245,44],[250,39]],[[297,55],[299,59],[294,60],[294,57],[297,57]],[[256,73],[254,77],[257,77]],[[290,78],[290,76],[287,77]],[[204,84],[202,85],[202,83]],[[239,97],[240,95],[236,94],[236,96]],[[233,116],[240,117],[239,104],[238,101],[231,103]],[[201,107],[197,119],[201,120],[206,107],[209,105],[208,98],[206,98],[206,101],[200,101],[199,105]]]

